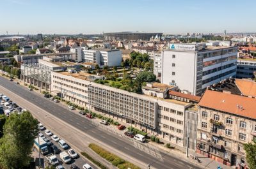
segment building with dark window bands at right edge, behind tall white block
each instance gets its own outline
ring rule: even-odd
[[[237,60],[237,78],[254,78],[253,72],[256,71],[256,59],[248,58]]]

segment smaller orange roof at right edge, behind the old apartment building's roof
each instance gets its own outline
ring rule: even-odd
[[[256,97],[256,82],[246,79],[236,79],[236,85],[244,96]]]

